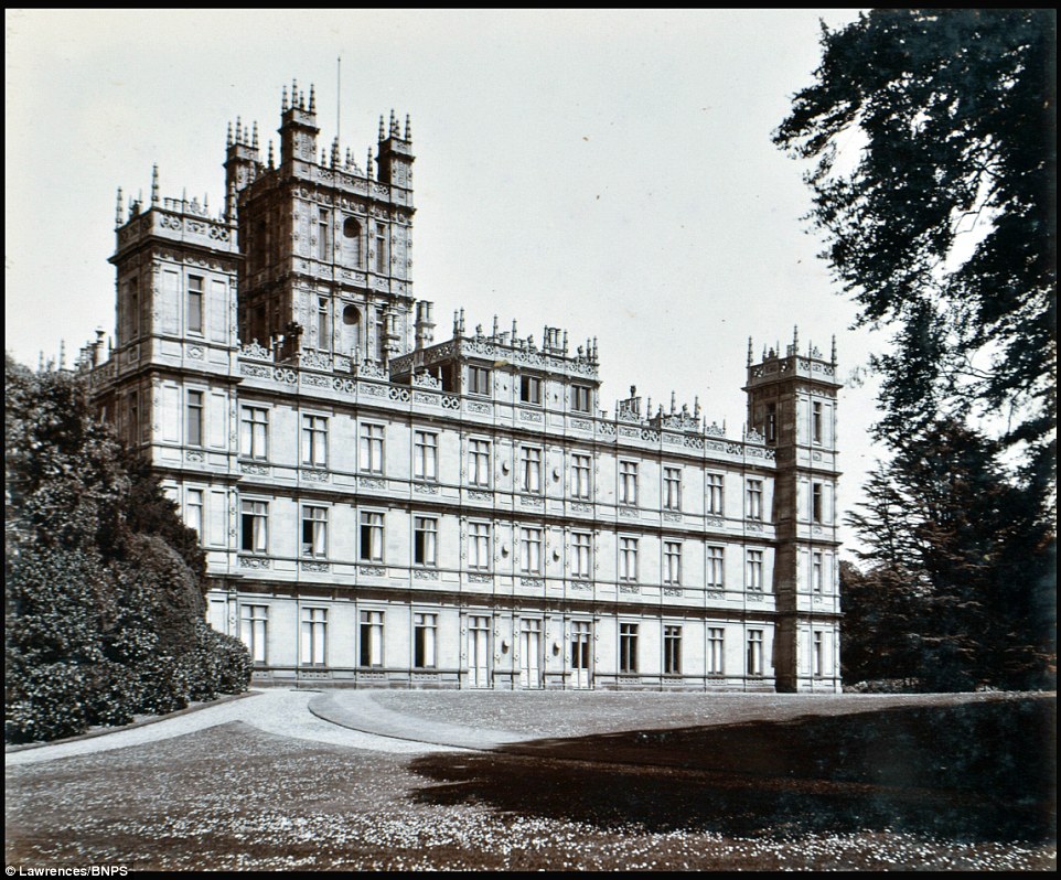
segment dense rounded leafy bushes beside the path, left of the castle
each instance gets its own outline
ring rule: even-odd
[[[39,740],[245,690],[204,620],[205,557],[82,377],[6,362],[6,736]]]

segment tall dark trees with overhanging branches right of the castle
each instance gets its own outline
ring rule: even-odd
[[[1055,36],[1052,10],[860,14],[823,29],[774,133],[814,162],[859,322],[892,332],[848,677],[1033,686],[1055,664]]]

